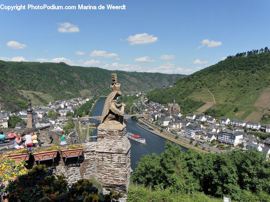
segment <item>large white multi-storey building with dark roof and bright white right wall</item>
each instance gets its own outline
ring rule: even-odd
[[[239,144],[239,139],[243,138],[244,132],[232,131],[225,129],[217,133],[216,142],[223,143],[224,145],[231,145],[235,147]]]

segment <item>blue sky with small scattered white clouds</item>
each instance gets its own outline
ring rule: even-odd
[[[0,0],[0,60],[191,74],[270,46],[270,1]],[[77,10],[28,10],[74,5]],[[78,10],[78,4],[105,6]],[[106,4],[125,5],[107,10]],[[2,6],[3,7],[3,6]],[[1,6],[0,6],[1,8]]]

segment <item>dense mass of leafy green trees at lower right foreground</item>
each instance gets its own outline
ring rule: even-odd
[[[189,149],[184,153],[180,146],[168,141],[165,148],[160,158],[156,154],[152,157],[148,154],[147,158],[143,156],[131,180],[153,186],[155,190],[169,189],[176,194],[199,191],[212,196],[225,195],[238,201],[270,199],[270,162],[257,150],[218,154]],[[155,169],[151,172],[148,172],[148,162],[154,164]],[[146,179],[152,174],[155,177]]]

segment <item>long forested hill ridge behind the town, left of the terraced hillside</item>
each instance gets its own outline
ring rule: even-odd
[[[111,73],[117,73],[123,93],[154,89],[172,84],[185,75],[110,71],[97,67],[69,66],[65,63],[5,62],[0,60],[0,102],[14,110],[80,95],[107,95]],[[38,98],[36,98],[38,97]]]

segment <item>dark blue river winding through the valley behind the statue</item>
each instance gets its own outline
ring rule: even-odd
[[[106,98],[100,98],[100,100],[96,103],[92,116],[101,116],[105,100]],[[91,123],[95,123],[96,127],[98,127],[98,120],[91,119]],[[143,128],[139,127],[136,123],[137,121],[135,121],[132,118],[129,118],[128,121],[125,121],[125,124],[127,126],[126,131],[145,138],[146,144],[129,139],[131,144],[131,168],[133,170],[137,168],[136,162],[140,161],[140,158],[143,157],[143,154],[156,153],[160,155],[165,150],[164,147],[166,142],[165,139],[144,130]],[[138,123],[141,124],[140,122]],[[96,136],[97,132],[98,130],[94,129],[93,136]],[[185,148],[182,148],[182,150],[187,151],[187,149]]]

